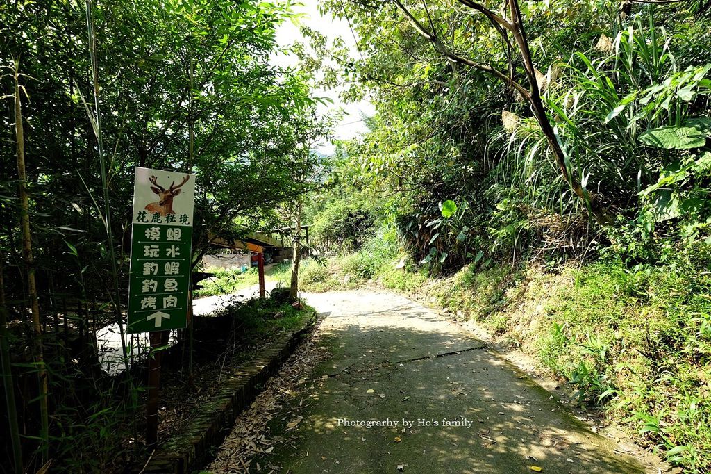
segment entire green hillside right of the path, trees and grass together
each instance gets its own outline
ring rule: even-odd
[[[306,209],[302,289],[381,285],[476,320],[711,470],[707,2],[326,8],[362,39],[341,73],[378,113]]]

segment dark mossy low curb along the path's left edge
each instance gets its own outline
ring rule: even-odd
[[[250,406],[281,364],[292,354],[299,338],[312,322],[300,330],[287,333],[275,340],[241,364],[235,375],[222,383],[218,394],[188,423],[181,433],[176,433],[162,443],[146,464],[146,474],[188,474],[200,468],[199,463],[210,456],[210,448],[225,441],[235,419]]]

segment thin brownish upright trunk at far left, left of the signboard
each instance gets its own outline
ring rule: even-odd
[[[20,62],[15,61],[15,137],[17,152],[17,179],[20,194],[20,223],[22,227],[22,251],[27,267],[27,287],[32,313],[32,339],[35,364],[39,379],[39,404],[41,420],[41,452],[42,461],[46,463],[49,458],[49,411],[47,408],[47,370],[45,369],[42,349],[42,325],[40,321],[40,306],[37,297],[37,283],[35,281],[35,263],[32,258],[32,233],[30,232],[30,202],[27,193],[27,174],[25,172],[25,135],[22,123],[22,101],[20,91]]]

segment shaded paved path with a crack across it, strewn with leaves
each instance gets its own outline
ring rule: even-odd
[[[294,474],[648,472],[431,310],[365,290],[306,297],[330,312],[316,335],[330,357],[274,417],[272,434],[286,441],[258,458],[262,466]],[[303,417],[295,427],[294,413]],[[403,428],[403,419],[414,424]],[[364,421],[390,426],[346,426]]]

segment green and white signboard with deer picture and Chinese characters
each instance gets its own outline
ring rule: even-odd
[[[195,175],[136,168],[128,332],[186,327]]]

